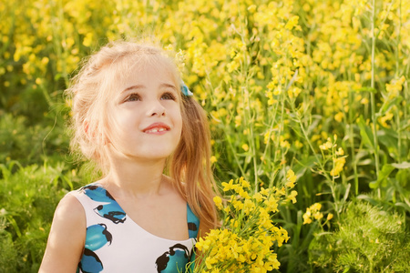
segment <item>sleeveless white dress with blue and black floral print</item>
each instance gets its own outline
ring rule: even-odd
[[[77,272],[186,272],[195,258],[194,246],[200,221],[187,204],[190,238],[159,238],[139,227],[108,191],[99,184],[69,194],[77,197],[87,217],[87,238]]]

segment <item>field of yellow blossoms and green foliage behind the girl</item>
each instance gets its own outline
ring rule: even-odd
[[[410,271],[410,1],[15,0],[0,16],[0,272],[36,272],[56,203],[93,179],[68,153],[69,78],[147,35],[209,113],[220,191],[246,190],[216,200],[224,219],[280,193],[249,272]],[[214,241],[248,228],[225,224]],[[248,272],[211,257],[204,271]]]

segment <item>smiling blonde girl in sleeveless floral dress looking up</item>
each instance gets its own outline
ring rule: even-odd
[[[61,200],[40,272],[185,272],[217,214],[207,117],[177,66],[158,46],[111,43],[67,93],[72,144],[104,177]]]

